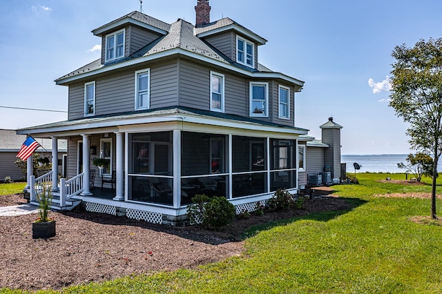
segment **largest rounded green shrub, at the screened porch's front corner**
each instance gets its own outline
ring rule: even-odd
[[[209,198],[206,195],[195,195],[192,202],[187,208],[187,217],[191,224],[219,228],[232,222],[236,215],[235,206],[225,197]]]

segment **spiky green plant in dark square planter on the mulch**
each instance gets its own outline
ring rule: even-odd
[[[50,183],[41,185],[41,191],[37,193],[39,217],[32,222],[32,239],[46,239],[55,236],[55,219],[49,217],[53,197],[52,189]]]

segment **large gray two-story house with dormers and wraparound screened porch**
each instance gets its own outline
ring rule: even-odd
[[[267,40],[229,18],[211,21],[210,9],[198,1],[195,26],[131,12],[92,31],[101,58],[56,80],[68,87],[68,120],[17,131],[68,140],[61,206],[78,199],[91,211],[174,223],[197,194],[225,196],[240,211],[278,188],[298,193],[313,172],[309,144],[323,157],[317,171],[334,166],[329,145],[295,126],[304,82],[262,66]],[[108,160],[95,186],[115,179],[111,197],[88,184],[95,157]]]

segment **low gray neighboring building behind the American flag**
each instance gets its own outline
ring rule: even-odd
[[[17,161],[17,153],[20,150],[21,144],[26,139],[26,135],[17,135],[15,130],[0,129],[0,181],[6,177],[10,177],[14,181],[21,180],[24,175],[21,169],[15,164]],[[50,139],[36,138],[43,148],[37,148],[36,152],[43,157],[51,157],[52,153],[52,141]],[[57,159],[61,164],[58,166],[57,173],[64,175],[63,159],[66,158],[67,146],[66,140],[59,140],[58,157]]]

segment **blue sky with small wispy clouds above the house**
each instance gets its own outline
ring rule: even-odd
[[[196,0],[144,0],[144,13],[195,23]],[[342,154],[410,153],[406,125],[388,107],[391,52],[442,37],[439,0],[211,0],[211,20],[230,17],[269,40],[260,63],[305,81],[296,125],[320,137],[329,116],[343,126]],[[67,110],[54,80],[99,58],[90,31],[139,0],[0,0],[0,106]],[[0,107],[0,128],[67,119],[61,112]]]

